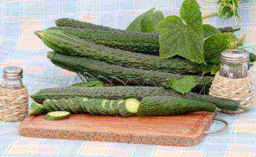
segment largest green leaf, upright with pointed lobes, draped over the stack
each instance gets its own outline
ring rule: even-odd
[[[168,16],[157,28],[160,58],[179,55],[192,62],[205,63],[202,13],[196,0],[185,0],[180,8],[180,17]]]

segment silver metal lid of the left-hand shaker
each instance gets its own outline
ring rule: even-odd
[[[23,69],[21,67],[4,67],[3,68],[3,78],[7,80],[18,80],[23,78]]]

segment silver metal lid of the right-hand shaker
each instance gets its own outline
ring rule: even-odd
[[[249,62],[249,52],[243,49],[226,50],[221,53],[221,61],[227,63]]]

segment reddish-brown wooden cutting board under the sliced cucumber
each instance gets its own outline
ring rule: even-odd
[[[25,137],[94,140],[118,143],[194,146],[204,138],[215,113],[157,117],[112,117],[90,114],[71,115],[47,121],[44,115],[29,115],[19,125]]]

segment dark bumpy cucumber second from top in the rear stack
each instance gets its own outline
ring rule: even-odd
[[[105,45],[109,48],[156,56],[159,53],[158,34],[73,27],[52,27],[47,30],[58,30],[98,45]]]

